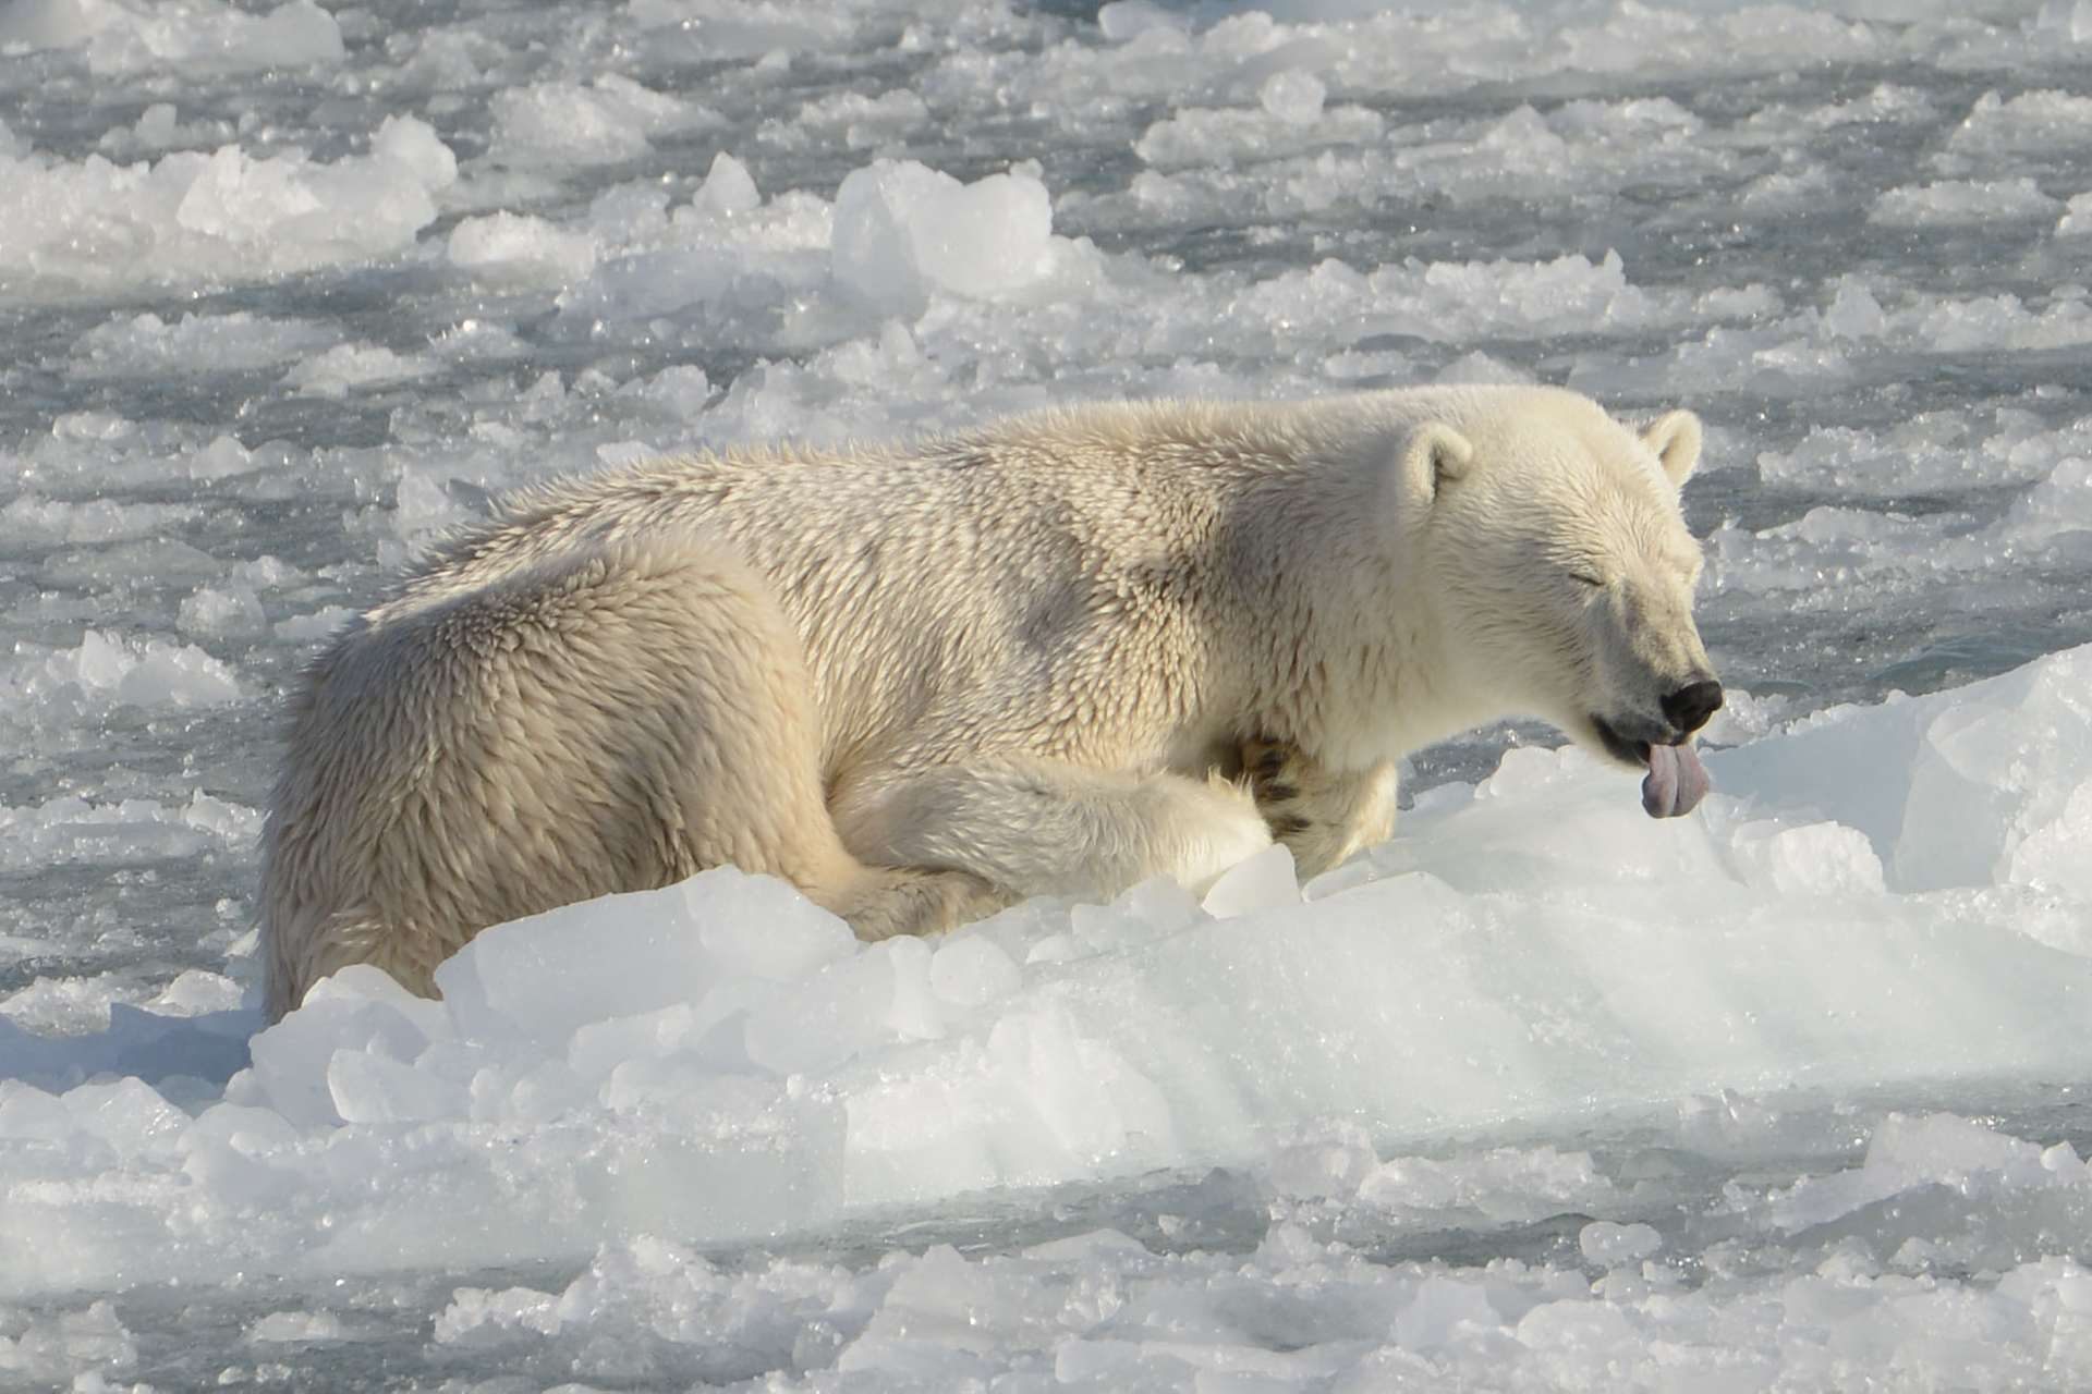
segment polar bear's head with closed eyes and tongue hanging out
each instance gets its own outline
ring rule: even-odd
[[[1416,424],[1400,462],[1450,663],[1500,711],[1646,771],[1651,815],[1686,813],[1707,790],[1688,742],[1722,706],[1692,623],[1701,550],[1678,506],[1699,418],[1636,433],[1575,393],[1458,401],[1477,399],[1492,410]]]

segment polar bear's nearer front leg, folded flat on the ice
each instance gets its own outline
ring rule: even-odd
[[[831,811],[864,861],[971,872],[1019,897],[1109,899],[1151,876],[1203,892],[1272,844],[1249,790],[1218,775],[1038,759],[883,773],[839,790]]]

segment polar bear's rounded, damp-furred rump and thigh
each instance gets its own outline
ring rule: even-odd
[[[339,957],[328,924],[433,966],[490,924],[722,863],[849,874],[797,633],[720,548],[588,543],[395,608],[312,681],[266,857],[299,978],[278,1012],[318,976],[295,963]]]

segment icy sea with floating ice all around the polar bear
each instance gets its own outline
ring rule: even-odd
[[[0,1381],[2086,1386],[2088,130],[2084,0],[0,4]],[[1684,826],[1494,729],[1305,901],[713,878],[247,1068],[490,495],[1429,380],[1707,420]]]

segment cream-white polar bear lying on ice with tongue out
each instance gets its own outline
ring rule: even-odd
[[[1044,412],[529,491],[351,621],[264,836],[268,1009],[416,993],[483,926],[734,863],[864,938],[1383,840],[1395,759],[1510,713],[1705,773],[1678,491],[1538,387]]]

